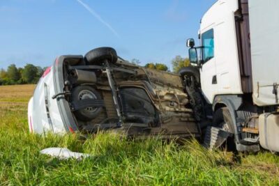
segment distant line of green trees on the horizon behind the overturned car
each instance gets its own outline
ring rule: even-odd
[[[132,59],[131,63],[140,65],[140,61]],[[172,70],[173,72],[179,72],[182,67],[190,65],[190,61],[187,58],[176,56],[172,59]],[[163,70],[170,72],[167,65],[163,63],[146,63],[145,68],[151,68],[156,70]],[[38,79],[43,75],[45,68],[40,66],[27,64],[24,68],[17,68],[15,64],[8,66],[7,70],[0,70],[0,85],[12,85],[12,84],[36,84]]]

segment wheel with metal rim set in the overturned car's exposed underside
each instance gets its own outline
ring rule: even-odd
[[[100,93],[91,86],[76,86],[72,91],[72,100],[102,99]],[[103,110],[102,107],[87,107],[74,111],[75,117],[80,121],[91,121]]]

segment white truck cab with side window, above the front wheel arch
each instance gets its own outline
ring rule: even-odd
[[[241,72],[243,55],[239,52],[238,40],[238,37],[246,37],[246,40],[249,37],[249,31],[243,33],[238,26],[240,19],[241,24],[247,24],[243,26],[249,26],[249,22],[243,23],[246,13],[243,11],[248,8],[247,5],[242,2],[239,7],[239,1],[217,1],[202,17],[199,69],[202,91],[210,104],[213,104],[216,95],[252,93],[251,61],[246,61],[247,72]],[[247,52],[250,53],[249,46]]]

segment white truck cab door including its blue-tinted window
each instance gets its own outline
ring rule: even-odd
[[[202,68],[200,77],[204,97],[209,103],[212,103],[214,96],[218,94],[213,29],[202,33]]]

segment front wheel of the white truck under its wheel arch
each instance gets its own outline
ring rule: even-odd
[[[229,113],[229,109],[226,107],[218,109],[213,116],[213,127],[220,127],[227,132],[234,134],[234,123],[232,121],[232,116]],[[223,144],[223,147],[227,148],[229,151],[236,151],[236,142],[234,137],[228,137]]]

